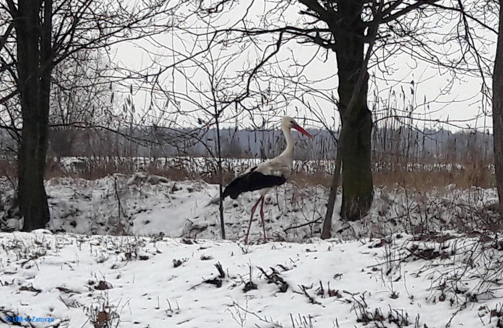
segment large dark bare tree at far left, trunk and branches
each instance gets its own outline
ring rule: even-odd
[[[175,25],[179,2],[7,0],[0,18],[8,28],[2,37],[2,63],[13,83],[3,90],[0,105],[19,97],[22,127],[18,149],[18,201],[25,231],[49,220],[45,171],[52,72],[56,65],[83,50],[161,33]]]

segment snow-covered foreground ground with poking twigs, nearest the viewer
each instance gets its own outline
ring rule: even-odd
[[[17,315],[84,328],[105,322],[181,328],[500,326],[502,292],[494,289],[488,300],[478,281],[468,279],[487,264],[466,265],[479,239],[413,239],[244,247],[47,230],[0,233],[0,322],[7,325],[6,315]],[[501,251],[489,249],[501,258]],[[463,268],[465,280],[449,280]]]

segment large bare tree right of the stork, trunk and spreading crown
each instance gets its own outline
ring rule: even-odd
[[[254,21],[250,14],[250,17],[240,18],[241,21],[237,21],[232,27],[220,29],[230,35],[228,42],[242,42],[243,39],[257,39],[264,35],[276,36],[272,51],[262,56],[249,76],[256,74],[265,62],[275,58],[280,49],[291,40],[335,52],[342,122],[341,142],[338,145],[343,172],[341,214],[345,220],[357,220],[366,215],[373,198],[372,115],[367,104],[368,69],[378,67],[398,53],[410,54],[413,58],[435,64],[447,61],[447,58],[441,56],[444,53],[442,49],[432,47],[432,43],[440,44],[444,40],[432,38],[434,41],[430,43],[425,41],[427,37],[424,31],[431,30],[431,22],[441,18],[441,13],[445,10],[442,6],[437,6],[437,3],[438,0],[299,0],[298,4],[271,2],[265,5],[264,12],[267,14],[260,16],[259,20]],[[203,10],[208,15],[224,15],[226,8],[229,8],[227,13],[232,11],[232,6],[237,8],[239,4],[219,1]],[[247,12],[253,11],[251,7],[252,5],[248,6]],[[292,11],[295,10],[299,15],[292,21]],[[251,24],[250,21],[254,23]],[[451,66],[455,67],[455,64]],[[246,95],[247,91],[243,93],[243,96]],[[337,179],[334,181],[337,182]],[[334,197],[330,199],[334,200]],[[333,201],[330,206],[333,206]],[[331,217],[331,213],[329,216]]]

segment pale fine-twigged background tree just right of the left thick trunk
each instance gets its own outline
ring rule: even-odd
[[[56,156],[70,156],[86,148],[83,134],[74,122],[110,125],[117,121],[111,83],[103,77],[113,64],[103,49],[84,49],[53,69],[49,108],[49,149]]]

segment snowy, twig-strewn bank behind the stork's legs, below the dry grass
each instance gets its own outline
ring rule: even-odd
[[[218,195],[218,186],[203,181],[169,181],[162,177],[116,174],[95,181],[55,178],[46,182],[53,232],[83,234],[130,234],[219,239],[218,205],[208,205]],[[14,192],[0,179],[0,229],[19,228]],[[276,241],[308,241],[320,235],[328,190],[286,184],[265,201],[267,237]],[[224,201],[227,238],[244,237],[253,193]],[[394,232],[428,232],[453,229],[469,232],[497,223],[493,204],[495,189],[413,192],[401,188],[376,188],[370,214],[362,222],[343,224],[338,215],[341,197],[334,209],[332,231],[342,238],[389,235]],[[262,240],[259,211],[251,225],[250,241]],[[6,228],[6,229],[7,229]]]

